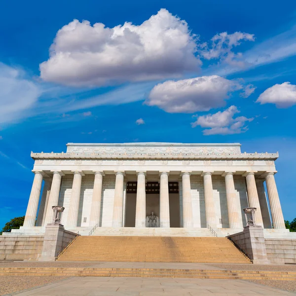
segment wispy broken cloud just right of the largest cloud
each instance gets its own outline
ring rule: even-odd
[[[199,53],[207,60],[220,59],[232,66],[243,67],[245,66],[245,61],[243,60],[242,53],[234,53],[232,51],[233,47],[240,45],[243,40],[255,41],[254,34],[242,32],[228,34],[227,32],[222,32],[216,34],[211,39],[212,44],[210,48],[208,43],[200,44]]]

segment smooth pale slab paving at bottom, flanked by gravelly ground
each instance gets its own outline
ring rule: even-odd
[[[251,296],[296,295],[267,286],[223,279],[74,277],[19,296]]]

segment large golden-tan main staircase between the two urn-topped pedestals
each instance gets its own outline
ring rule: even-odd
[[[59,261],[251,263],[224,237],[79,236]]]

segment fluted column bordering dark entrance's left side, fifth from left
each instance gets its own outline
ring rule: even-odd
[[[113,221],[112,227],[122,227],[123,215],[123,177],[124,172],[115,172],[115,192],[113,206]]]

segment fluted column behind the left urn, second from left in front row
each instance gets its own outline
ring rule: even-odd
[[[44,225],[51,223],[54,218],[54,213],[51,207],[57,206],[59,203],[62,175],[64,175],[62,172],[53,172]]]

